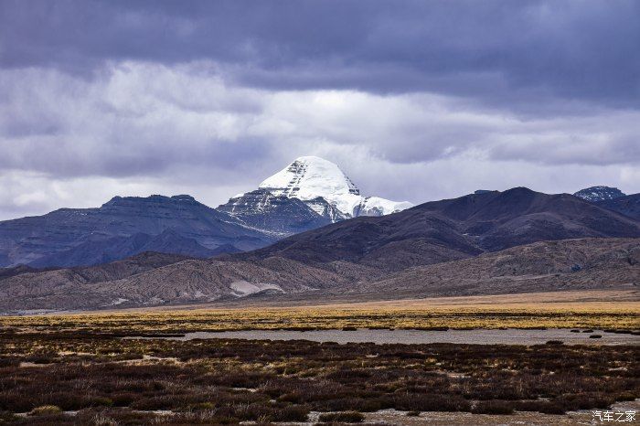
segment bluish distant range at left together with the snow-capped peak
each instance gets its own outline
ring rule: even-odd
[[[261,248],[355,211],[379,216],[410,206],[362,197],[337,165],[301,157],[218,209],[189,196],[114,197],[101,208],[2,221],[0,268],[94,265],[144,251],[208,258]]]

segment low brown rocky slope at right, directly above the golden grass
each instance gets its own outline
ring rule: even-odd
[[[473,259],[409,268],[349,293],[411,297],[631,289],[640,286],[640,240],[540,241]]]

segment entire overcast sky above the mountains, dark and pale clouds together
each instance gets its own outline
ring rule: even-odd
[[[640,2],[0,0],[0,219],[215,207],[299,155],[365,195],[640,192]]]

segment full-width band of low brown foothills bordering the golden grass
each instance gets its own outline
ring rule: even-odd
[[[281,257],[185,260],[143,253],[87,268],[0,278],[0,313],[281,301],[389,300],[452,295],[637,289],[640,239],[539,241],[461,261],[385,272],[347,261]]]

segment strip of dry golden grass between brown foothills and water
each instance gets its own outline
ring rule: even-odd
[[[619,293],[611,292],[611,297]],[[606,295],[606,294],[604,294]],[[83,330],[102,333],[247,329],[357,328],[603,328],[640,329],[640,302],[603,302],[575,294],[478,296],[322,306],[155,309],[0,317],[16,331]],[[491,298],[494,298],[492,303]]]

